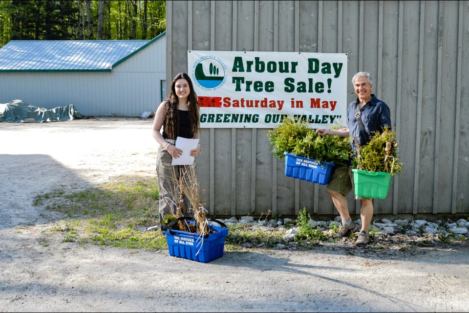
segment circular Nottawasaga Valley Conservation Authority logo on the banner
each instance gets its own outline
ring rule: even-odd
[[[192,66],[192,79],[201,89],[216,90],[226,82],[226,65],[220,58],[204,56],[199,58]]]

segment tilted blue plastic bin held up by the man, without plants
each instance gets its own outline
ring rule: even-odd
[[[334,163],[318,162],[311,158],[284,152],[285,176],[327,185],[331,180]]]

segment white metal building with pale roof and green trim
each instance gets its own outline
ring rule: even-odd
[[[0,48],[0,103],[140,116],[166,97],[165,78],[166,32],[152,40],[10,41]]]

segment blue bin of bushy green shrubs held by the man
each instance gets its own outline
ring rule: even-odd
[[[349,138],[321,136],[304,120],[289,117],[269,131],[269,141],[274,156],[285,157],[286,176],[322,185],[329,183],[335,165],[345,165],[352,156]]]

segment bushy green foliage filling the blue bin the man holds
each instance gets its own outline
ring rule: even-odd
[[[304,120],[285,117],[269,131],[271,151],[277,158],[283,152],[344,166],[352,156],[349,139],[338,135],[321,136]]]

